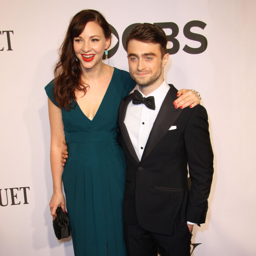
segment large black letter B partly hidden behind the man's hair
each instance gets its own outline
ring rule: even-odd
[[[170,49],[167,49],[167,53],[169,53],[170,55],[177,53],[180,49],[180,43],[176,38],[177,35],[179,34],[178,25],[173,22],[154,23],[154,25],[158,25],[162,27],[162,29],[169,28],[172,30],[172,34],[166,35],[168,41],[173,43],[173,47]]]

